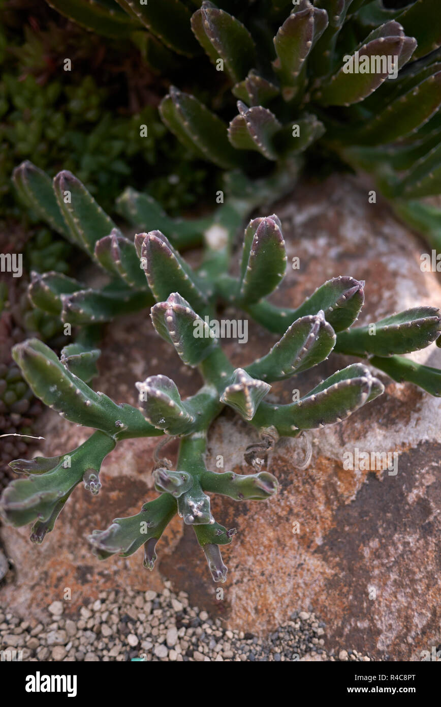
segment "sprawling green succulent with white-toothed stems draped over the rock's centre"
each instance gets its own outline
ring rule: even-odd
[[[27,189],[29,184],[23,180],[22,172],[23,168],[16,176],[22,180],[21,187]],[[29,179],[33,180],[35,174],[41,177],[30,169]],[[266,452],[274,448],[279,437],[296,438],[308,430],[338,423],[384,390],[382,382],[364,363],[337,370],[291,404],[265,401],[271,383],[316,366],[333,350],[361,357],[373,355],[377,368],[382,368],[382,361],[386,367],[390,361],[398,361],[401,375],[406,365],[413,364],[398,354],[422,349],[435,341],[440,336],[440,312],[430,307],[401,312],[377,322],[375,336],[365,327],[351,328],[363,305],[364,290],[363,283],[349,276],[327,281],[296,310],[276,308],[266,298],[283,279],[286,250],[281,222],[274,214],[249,222],[240,274],[234,278],[227,273],[230,239],[223,226],[208,226],[206,255],[194,271],[160,230],[137,233],[132,244],[115,230],[72,175],[62,173],[54,181],[60,209],[56,211],[57,202],[52,201],[53,209],[48,209],[47,214],[54,222],[62,214],[71,237],[81,240],[99,264],[119,274],[127,288],[131,287],[129,300],[127,290],[119,289],[121,310],[126,300],[138,300],[139,308],[153,304],[151,320],[156,332],[175,349],[183,363],[199,370],[204,385],[192,397],[182,399],[173,380],[165,375],[150,375],[136,382],[139,409],[117,405],[107,395],[92,390],[84,382],[84,375],[78,375],[90,364],[86,349],[67,351],[59,359],[37,339],[18,344],[13,358],[35,395],[65,419],[94,428],[95,432],[64,455],[11,462],[16,472],[28,477],[13,481],[4,491],[1,514],[6,522],[16,526],[33,522],[31,539],[42,542],[81,481],[91,493],[100,491],[102,460],[120,440],[157,436],[166,441],[177,437],[180,446],[176,469],[158,458],[157,453],[153,479],[158,498],[144,503],[138,514],[115,518],[106,530],[94,530],[88,539],[100,559],[112,554],[128,556],[143,545],[144,566],[152,569],[156,543],[178,513],[184,523],[193,526],[213,580],[225,581],[227,569],[220,546],[232,541],[235,529],[227,530],[216,522],[208,494],[220,493],[237,501],[275,496],[277,480],[262,466]],[[50,186],[41,182],[42,191],[45,183]],[[37,189],[35,182],[33,187]],[[69,207],[62,199],[66,192],[72,197]],[[163,216],[150,217],[153,221],[156,218],[158,225],[162,223]],[[103,235],[109,230],[110,235]],[[95,245],[92,235],[98,238]],[[182,232],[178,230],[176,235],[179,240]],[[73,305],[78,307],[75,309],[69,305],[72,291],[66,293],[66,287],[73,290],[76,285],[69,281],[66,286],[62,276],[57,278],[49,274],[36,281],[33,298],[53,310],[62,309],[69,315],[81,315],[82,310],[88,312],[88,320],[92,315],[100,319],[105,299],[102,293],[98,296],[86,291],[74,298]],[[112,296],[117,299],[116,292]],[[267,329],[281,334],[266,356],[244,368],[232,366],[215,329],[208,323],[215,315],[218,298],[242,308]],[[391,354],[394,355],[390,357]],[[432,378],[430,369],[421,368],[423,373],[412,369],[414,381],[440,395],[439,372]],[[389,366],[389,373],[394,375],[394,363]],[[245,456],[254,467],[252,474],[206,468],[208,428],[225,406],[249,421],[259,434],[260,442],[250,445]]]

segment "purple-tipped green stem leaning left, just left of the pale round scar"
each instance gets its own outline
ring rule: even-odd
[[[196,312],[204,312],[207,299],[196,275],[160,231],[145,234],[141,263],[158,302],[166,300],[172,292],[179,292]]]

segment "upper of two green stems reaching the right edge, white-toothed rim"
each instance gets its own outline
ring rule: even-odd
[[[440,331],[440,310],[416,307],[385,317],[375,325],[340,332],[335,351],[353,356],[407,354],[425,349],[435,341]]]

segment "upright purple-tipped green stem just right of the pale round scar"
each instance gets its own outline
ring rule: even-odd
[[[254,218],[245,230],[239,298],[254,303],[273,292],[286,271],[285,241],[277,216]]]

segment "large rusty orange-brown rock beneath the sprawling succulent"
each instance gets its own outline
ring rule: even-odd
[[[276,302],[298,305],[326,279],[342,274],[366,281],[361,324],[416,305],[441,306],[436,276],[420,269],[423,243],[385,204],[368,203],[369,188],[336,175],[322,185],[300,185],[276,205],[288,248],[288,275]],[[294,256],[300,257],[300,270],[290,269]],[[243,366],[274,340],[250,323],[247,346],[226,341],[225,350]],[[102,349],[95,385],[117,402],[134,403],[134,381],[154,373],[176,380],[183,395],[200,385],[198,375],[155,335],[145,313],[108,327]],[[441,367],[435,346],[413,356]],[[295,381],[275,384],[270,395],[289,402],[293,388],[307,392],[350,362],[331,356]],[[103,464],[100,495],[77,489],[42,547],[29,544],[27,529],[2,529],[16,573],[1,590],[1,602],[38,615],[69,587],[73,613],[102,588],[155,589],[162,574],[178,590],[189,591],[199,607],[243,631],[266,631],[312,605],[327,623],[328,648],[344,644],[377,658],[419,660],[421,650],[441,641],[440,401],[412,385],[382,380],[386,391],[380,399],[311,434],[308,469],[295,467],[302,456],[300,440],[276,445],[267,468],[281,483],[277,498],[260,503],[213,498],[219,522],[238,530],[223,550],[229,568],[223,600],[216,598],[218,585],[211,582],[192,529],[183,530],[177,518],[160,542],[159,571],[152,574],[142,567],[141,551],[104,563],[90,554],[85,539],[90,530],[135,513],[155,496],[151,469],[158,440],[146,439],[118,445]],[[40,453],[47,455],[67,452],[87,435],[52,411],[45,413],[42,429],[46,441]],[[224,411],[211,428],[208,465],[215,468],[216,457],[223,455],[225,469],[247,472],[243,455],[255,439],[247,424]],[[343,453],[355,447],[396,452],[398,473],[343,469]],[[167,456],[175,459],[175,452],[170,444]]]

